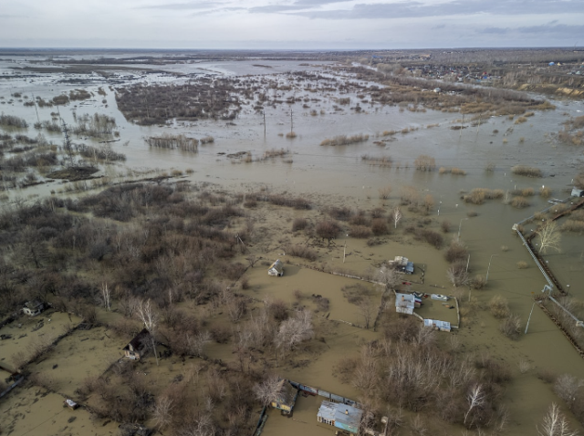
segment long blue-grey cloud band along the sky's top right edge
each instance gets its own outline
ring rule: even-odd
[[[284,6],[280,6],[284,7]],[[284,8],[283,12],[290,10]],[[427,16],[469,16],[490,14],[497,16],[514,16],[526,14],[579,14],[584,13],[581,0],[454,0],[440,5],[425,5],[421,2],[406,1],[400,3],[358,4],[350,10],[334,11],[299,11],[294,13],[310,18],[328,19],[363,19],[363,18],[416,18]]]

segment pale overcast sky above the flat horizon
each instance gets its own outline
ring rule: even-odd
[[[584,0],[0,0],[0,47],[584,46]]]

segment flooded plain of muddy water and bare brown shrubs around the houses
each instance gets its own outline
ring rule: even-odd
[[[0,123],[0,314],[53,306],[0,329],[2,368],[26,376],[0,432],[252,434],[271,375],[357,400],[391,434],[530,435],[552,402],[583,430],[582,359],[537,305],[524,334],[546,281],[511,231],[582,182],[558,134],[578,139],[578,101],[440,94],[330,60],[14,68],[40,60],[0,59],[15,117]],[[558,220],[542,252],[580,319],[582,222]],[[413,275],[391,272],[400,255]],[[450,296],[415,313],[458,328],[396,314],[394,289]],[[123,359],[149,320],[160,359]],[[264,433],[332,434],[320,400],[269,410]]]

